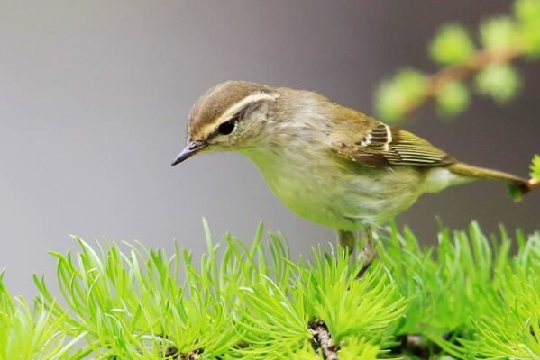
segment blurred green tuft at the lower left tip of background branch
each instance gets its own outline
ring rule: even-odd
[[[380,85],[375,94],[376,112],[389,122],[401,120],[411,105],[426,96],[426,86],[424,74],[410,68],[402,70]]]

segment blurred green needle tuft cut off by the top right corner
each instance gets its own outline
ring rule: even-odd
[[[540,56],[540,0],[517,0],[514,11],[526,54]]]

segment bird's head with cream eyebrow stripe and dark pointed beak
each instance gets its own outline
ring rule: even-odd
[[[211,88],[193,106],[188,121],[188,144],[172,165],[200,151],[256,147],[272,122],[278,99],[277,89],[243,81],[229,81]]]

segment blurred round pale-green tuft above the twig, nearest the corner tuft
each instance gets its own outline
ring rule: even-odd
[[[486,49],[511,49],[519,42],[517,23],[508,16],[500,16],[481,24],[481,43]]]

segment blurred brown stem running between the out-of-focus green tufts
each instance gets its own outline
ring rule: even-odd
[[[499,50],[481,49],[473,53],[471,58],[462,65],[442,68],[435,74],[427,76],[426,96],[416,102],[408,103],[403,109],[403,116],[416,112],[427,101],[435,99],[448,83],[467,80],[492,64],[504,64],[522,55],[523,49],[518,47]]]

